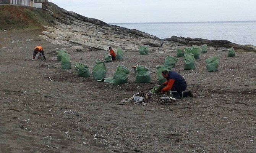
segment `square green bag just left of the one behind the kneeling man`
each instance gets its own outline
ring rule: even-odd
[[[136,66],[136,80],[138,83],[150,83],[151,77],[149,68],[143,65]]]

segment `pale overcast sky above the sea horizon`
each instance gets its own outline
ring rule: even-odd
[[[256,21],[256,0],[48,0],[107,23]]]

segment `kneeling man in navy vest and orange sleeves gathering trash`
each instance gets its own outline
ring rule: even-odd
[[[162,76],[167,79],[167,81],[162,84],[165,85],[165,87],[161,90],[162,93],[171,90],[173,97],[176,99],[188,96],[193,97],[191,91],[184,92],[187,88],[187,83],[180,74],[173,71],[163,70]]]

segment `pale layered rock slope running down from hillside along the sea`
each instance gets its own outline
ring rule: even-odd
[[[87,18],[75,12],[58,8],[57,5],[52,3],[49,4],[44,6],[44,10],[53,13],[55,19],[51,22],[54,26],[46,26],[39,37],[65,48],[80,45],[83,48],[108,50],[109,46],[112,46],[113,49],[121,46],[126,51],[138,51],[140,45],[149,45],[149,52],[172,52],[176,51],[177,47],[200,46],[206,43],[217,50],[227,50],[233,47],[236,51],[256,51],[255,46],[238,45],[227,40],[206,40],[176,36],[160,39],[136,29],[109,25],[98,19]]]

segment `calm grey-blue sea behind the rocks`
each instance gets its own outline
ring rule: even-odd
[[[231,22],[160,22],[112,23],[120,27],[137,29],[159,38],[178,37],[229,40],[241,45],[256,46],[256,21]]]

